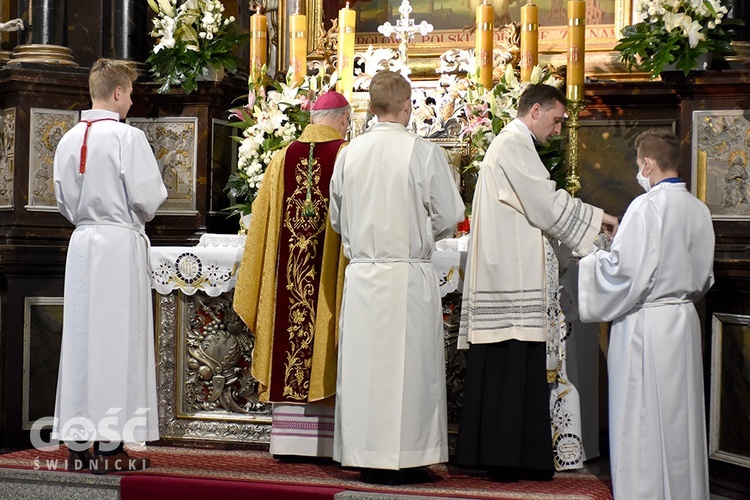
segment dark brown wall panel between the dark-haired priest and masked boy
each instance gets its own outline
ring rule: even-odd
[[[635,138],[651,128],[675,130],[674,120],[581,120],[578,130],[578,196],[605,212],[622,217],[643,189],[637,173]]]

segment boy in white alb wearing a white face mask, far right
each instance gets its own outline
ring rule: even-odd
[[[707,499],[701,326],[694,302],[713,284],[708,208],[679,175],[680,141],[635,142],[638,182],[609,252],[579,265],[584,321],[612,321],[609,437],[617,500]]]

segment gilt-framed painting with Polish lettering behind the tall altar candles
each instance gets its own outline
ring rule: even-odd
[[[385,22],[395,24],[399,19],[402,0],[309,0],[308,12],[312,13],[313,26],[323,23],[331,27],[331,20],[338,18],[338,11],[346,4],[357,16],[357,50],[368,45],[396,46],[393,37],[384,37],[378,26]],[[439,55],[450,49],[474,47],[474,25],[476,8],[481,0],[411,0],[410,18],[415,24],[427,21],[432,24],[432,33],[415,35],[410,53],[416,55]],[[498,28],[510,22],[520,22],[521,6],[525,0],[492,0],[495,11],[494,25],[496,41],[502,35]],[[535,0],[539,8],[539,50],[541,52],[565,52],[567,50],[567,0]],[[587,0],[586,2],[586,50],[609,51],[617,43],[620,30],[630,24],[631,0]],[[317,46],[315,37],[313,47]]]

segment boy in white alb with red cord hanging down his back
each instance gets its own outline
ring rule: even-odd
[[[62,137],[54,162],[57,205],[76,228],[65,263],[52,437],[68,445],[69,468],[98,473],[146,468],[123,441],[159,439],[144,225],[167,190],[146,136],[120,123],[135,78],[118,61],[92,66],[92,109]]]

